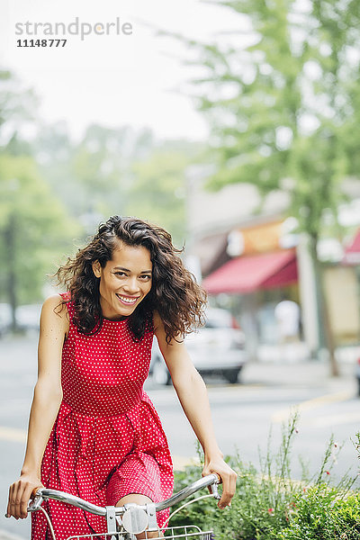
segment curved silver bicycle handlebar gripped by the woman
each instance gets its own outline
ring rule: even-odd
[[[180,500],[186,499],[186,497],[190,497],[190,495],[193,495],[195,491],[199,491],[202,488],[206,488],[207,486],[213,486],[214,490],[212,491],[213,496],[215,498],[218,498],[219,495],[217,494],[216,485],[219,483],[219,476],[217,474],[209,474],[208,476],[204,476],[203,478],[197,480],[196,482],[193,482],[189,486],[186,486],[183,490],[178,491],[174,495],[172,495],[169,499],[162,500],[160,502],[157,502],[155,504],[155,509],[157,512],[160,510],[168,509],[169,507],[173,506],[175,503],[180,502]],[[53,500],[61,500],[62,502],[66,502],[67,504],[71,504],[75,506],[78,509],[85,510],[86,512],[91,512],[92,514],[95,514],[96,516],[106,516],[106,509],[104,507],[99,507],[91,502],[87,502],[84,499],[80,499],[80,497],[76,497],[76,495],[70,495],[70,493],[65,493],[64,491],[57,491],[57,490],[48,490],[47,488],[40,488],[40,490],[36,491],[35,499],[31,502],[31,504],[28,507],[29,512],[36,511],[40,508],[40,504],[42,500],[47,499],[53,499]],[[146,510],[146,505],[138,505],[139,509]],[[116,507],[115,513],[116,514],[123,514],[125,512],[125,507]]]

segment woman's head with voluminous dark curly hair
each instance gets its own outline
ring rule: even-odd
[[[206,293],[184,268],[180,253],[170,234],[157,225],[119,216],[107,220],[92,241],[56,274],[58,284],[64,284],[72,293],[78,329],[91,335],[102,328],[103,319],[131,314],[129,327],[134,338],[141,339],[148,318],[152,320],[157,311],[167,343],[177,335],[192,332],[193,327],[202,324]],[[116,293],[135,296],[133,287],[148,282],[148,276],[149,291],[141,293],[141,285],[141,302],[136,302],[136,309],[118,313]]]

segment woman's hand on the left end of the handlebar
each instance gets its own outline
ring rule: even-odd
[[[9,488],[6,517],[27,518],[27,508],[32,491],[43,487],[40,478],[36,474],[22,474],[19,480]]]

